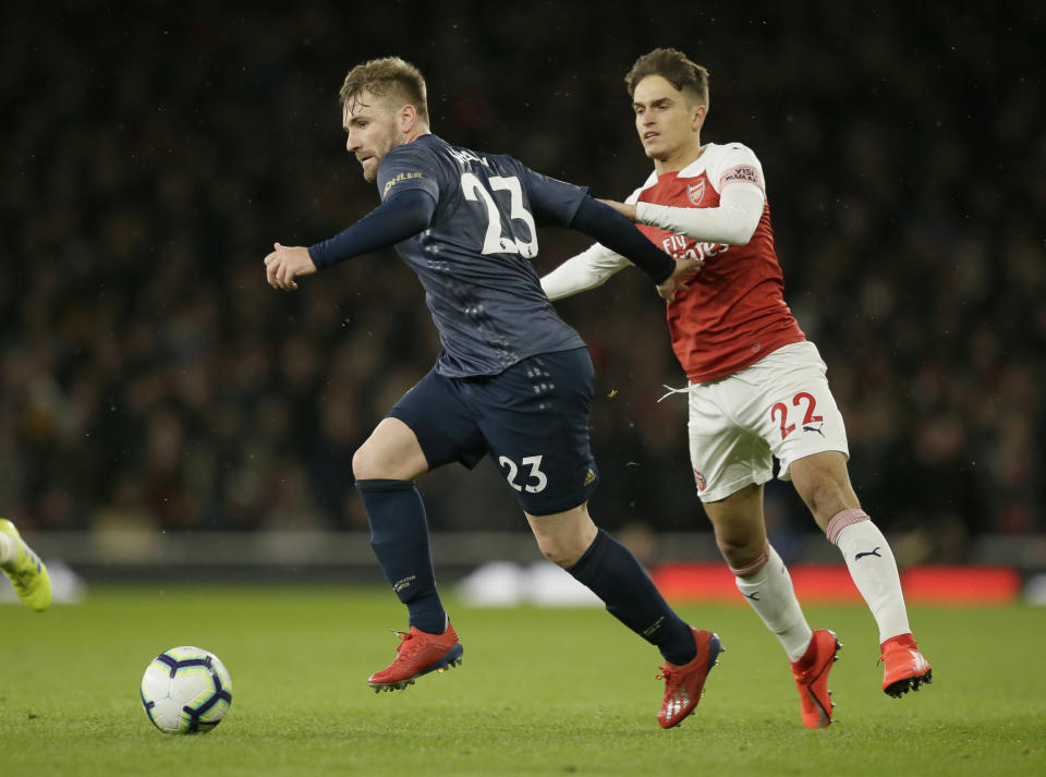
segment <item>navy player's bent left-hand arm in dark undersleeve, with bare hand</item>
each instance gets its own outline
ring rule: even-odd
[[[421,189],[398,192],[333,238],[308,248],[276,243],[265,257],[266,279],[273,289],[297,288],[294,280],[317,269],[396,245],[424,229],[436,210],[436,201]]]

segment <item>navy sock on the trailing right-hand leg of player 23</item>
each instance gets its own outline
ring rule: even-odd
[[[607,606],[607,611],[677,666],[697,655],[693,632],[649,579],[628,548],[604,530],[576,563],[567,571],[587,585]]]

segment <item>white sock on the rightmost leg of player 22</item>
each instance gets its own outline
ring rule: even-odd
[[[825,533],[842,553],[854,585],[868,603],[879,627],[879,642],[910,633],[893,551],[867,513],[843,510],[828,522]]]

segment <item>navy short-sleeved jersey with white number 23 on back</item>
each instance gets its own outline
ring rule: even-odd
[[[568,226],[587,190],[518,159],[423,135],[378,168],[385,201],[419,189],[436,201],[429,228],[396,250],[425,288],[448,377],[496,375],[521,360],[584,347],[542,290],[536,222]]]

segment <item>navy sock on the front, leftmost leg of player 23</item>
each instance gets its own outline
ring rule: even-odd
[[[370,547],[392,591],[406,605],[410,624],[442,634],[447,612],[436,592],[421,493],[413,481],[356,481],[356,489],[370,521]]]

